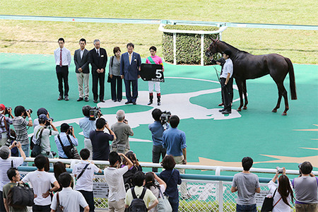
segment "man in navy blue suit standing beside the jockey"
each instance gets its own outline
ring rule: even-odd
[[[129,42],[129,44],[127,44],[127,52],[122,54],[120,59],[120,76],[124,79],[126,88],[127,102],[125,102],[125,104],[133,103],[136,105],[140,66],[141,57],[138,53],[134,52],[134,44]],[[132,85],[133,89],[132,96],[130,85]]]

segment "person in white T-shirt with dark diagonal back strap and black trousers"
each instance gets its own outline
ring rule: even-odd
[[[81,162],[73,167],[73,175],[77,177],[75,189],[83,194],[90,211],[94,211],[93,178],[95,172],[102,173],[102,170],[88,160],[90,151],[87,148],[83,148],[80,155]],[[82,207],[80,211],[83,211]]]

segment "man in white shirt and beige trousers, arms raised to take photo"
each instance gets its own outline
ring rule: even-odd
[[[124,157],[128,165],[119,168],[121,163],[120,156]],[[105,181],[109,187],[108,194],[108,211],[124,212],[126,190],[124,187],[124,179],[122,175],[126,173],[134,164],[123,153],[110,153],[110,166],[105,168]]]

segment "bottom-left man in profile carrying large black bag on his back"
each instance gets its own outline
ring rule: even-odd
[[[10,212],[28,212],[28,208],[26,206],[21,206],[19,208],[14,208],[13,206],[8,205],[8,192],[11,188],[15,187],[17,182],[20,181],[20,173],[15,167],[11,167],[8,172],[6,172],[8,175],[8,179],[10,179],[10,182],[8,184],[4,185],[4,206],[6,207],[6,211]]]

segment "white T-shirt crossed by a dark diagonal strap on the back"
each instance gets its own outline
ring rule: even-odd
[[[77,163],[73,167],[73,174],[78,177],[79,174],[81,174],[83,168],[86,166],[86,164],[89,164],[88,167],[86,167],[86,170],[83,172],[83,175],[80,177],[80,179],[77,179],[76,181],[76,190],[83,190],[86,192],[93,192],[93,178],[94,178],[94,172],[98,172],[100,169],[95,165],[87,160],[81,160],[80,163]]]

